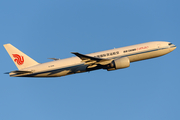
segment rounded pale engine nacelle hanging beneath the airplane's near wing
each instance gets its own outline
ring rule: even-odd
[[[108,71],[110,70],[117,70],[122,68],[127,68],[130,66],[130,60],[128,57],[122,57],[117,60],[112,61],[112,63],[109,65]]]

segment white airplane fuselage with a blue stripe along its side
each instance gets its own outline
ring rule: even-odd
[[[102,59],[118,59],[121,57],[128,57],[130,62],[140,61],[144,59],[150,59],[165,55],[176,48],[175,45],[169,42],[155,41],[147,42],[127,47],[121,47],[117,49],[111,49],[91,54],[87,56],[102,58]],[[32,67],[25,68],[23,70],[30,70],[33,73],[25,73],[21,75],[10,74],[11,76],[22,77],[59,77],[74,73],[86,72],[91,69],[86,69],[87,64],[79,57],[71,57],[56,61],[51,61],[43,64],[38,64]],[[101,69],[101,68],[98,68]],[[95,69],[92,69],[95,70]]]

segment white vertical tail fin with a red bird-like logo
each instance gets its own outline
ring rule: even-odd
[[[39,64],[11,44],[5,44],[4,47],[19,70]]]

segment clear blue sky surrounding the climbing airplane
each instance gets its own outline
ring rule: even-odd
[[[179,120],[178,0],[0,1],[1,120]],[[149,41],[177,49],[129,68],[12,78],[11,43],[43,63]]]

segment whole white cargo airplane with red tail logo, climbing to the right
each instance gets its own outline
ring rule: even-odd
[[[11,77],[61,77],[70,74],[105,69],[123,69],[131,62],[165,55],[176,49],[170,42],[153,41],[91,54],[71,52],[75,57],[50,58],[53,61],[38,63],[11,44],[4,45],[18,70],[7,72]]]

